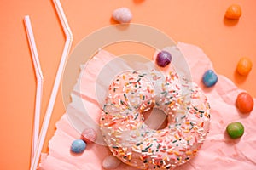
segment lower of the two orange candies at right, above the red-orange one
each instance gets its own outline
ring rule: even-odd
[[[252,67],[253,67],[253,63],[251,59],[243,57],[239,60],[236,66],[236,71],[242,76],[247,76],[249,72],[252,70]]]

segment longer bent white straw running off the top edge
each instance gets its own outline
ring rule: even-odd
[[[60,83],[61,83],[61,77],[62,77],[62,72],[64,70],[64,66],[65,66],[65,62],[67,60],[67,55],[69,54],[72,42],[73,42],[73,35],[72,32],[68,26],[67,23],[67,19],[66,16],[64,14],[64,11],[61,7],[61,3],[59,0],[53,0],[54,4],[55,4],[55,9],[58,13],[58,16],[61,20],[61,25],[63,27],[63,31],[65,32],[66,35],[66,42],[65,42],[65,46],[61,55],[61,62],[55,77],[55,83],[54,83],[54,87],[52,89],[52,93],[50,95],[50,99],[49,99],[49,104],[44,116],[44,122],[41,128],[41,133],[38,139],[38,144],[37,144],[37,148],[36,148],[36,152],[35,152],[35,156],[32,159],[32,166],[31,166],[31,170],[36,170],[37,166],[38,166],[38,161],[39,161],[39,157],[41,154],[41,151],[43,149],[43,145],[44,145],[44,139],[49,127],[49,121],[50,121],[50,117],[52,115],[52,111],[55,105],[55,99],[58,93],[58,89],[60,87]]]

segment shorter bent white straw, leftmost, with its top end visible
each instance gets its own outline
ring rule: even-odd
[[[26,26],[26,36],[29,41],[29,47],[32,54],[34,70],[37,77],[37,92],[36,92],[33,137],[32,137],[32,151],[31,151],[31,159],[32,159],[36,151],[36,145],[38,143],[44,77],[43,77],[41,66],[38,59],[38,49],[34,39],[31,21],[28,15],[25,16],[24,22]]]

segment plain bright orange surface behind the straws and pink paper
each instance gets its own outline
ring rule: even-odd
[[[241,5],[242,16],[237,22],[224,20],[231,3]],[[92,31],[109,26],[113,9],[131,8],[134,23],[154,26],[176,42],[201,47],[212,60],[218,74],[229,77],[240,88],[256,97],[256,1],[238,0],[61,0],[73,31],[73,47]],[[0,167],[28,169],[32,144],[32,122],[36,79],[32,66],[24,16],[29,14],[38,47],[43,74],[45,113],[61,59],[65,37],[54,4],[47,1],[2,0],[0,10],[0,94],[1,94],[1,158]],[[247,77],[236,74],[237,61],[247,56],[254,68]],[[55,131],[55,122],[65,112],[61,90],[55,102],[53,117],[44,144]],[[43,120],[43,118],[42,118]]]

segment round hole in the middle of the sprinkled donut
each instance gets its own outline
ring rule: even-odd
[[[168,120],[164,111],[157,108],[151,108],[143,112],[144,123],[151,129],[160,130],[167,127]]]

